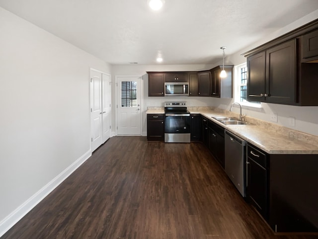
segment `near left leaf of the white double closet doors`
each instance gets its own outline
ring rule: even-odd
[[[91,151],[102,144],[101,73],[90,71],[90,130]]]

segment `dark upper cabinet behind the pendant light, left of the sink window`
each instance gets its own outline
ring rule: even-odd
[[[223,66],[217,66],[211,70],[211,96],[218,98],[233,98],[233,65],[224,66],[227,73],[225,78],[220,74]]]

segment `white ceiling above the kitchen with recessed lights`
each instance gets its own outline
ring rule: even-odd
[[[318,9],[318,0],[0,0],[107,63],[212,64]]]

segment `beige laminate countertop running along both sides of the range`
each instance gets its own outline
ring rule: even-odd
[[[212,120],[269,154],[318,154],[318,137],[314,135],[288,129],[276,124],[275,127],[271,127],[273,124],[262,120],[260,120],[260,123],[257,122],[255,124],[225,125],[212,117],[229,116],[229,114],[220,113],[214,110],[189,111],[191,114],[200,114]],[[164,111],[152,109],[148,110],[147,114],[164,114]],[[247,119],[246,121],[249,120]],[[284,129],[281,130],[281,128]],[[299,134],[301,136],[299,136]]]

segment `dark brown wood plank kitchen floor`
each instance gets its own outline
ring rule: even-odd
[[[274,236],[201,143],[116,136],[1,239]]]

